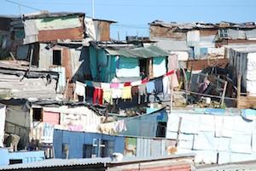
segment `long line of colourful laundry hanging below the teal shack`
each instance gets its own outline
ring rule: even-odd
[[[76,93],[85,97],[86,87],[92,88],[93,103],[100,104],[106,101],[108,104],[113,104],[113,99],[132,100],[133,97],[138,97],[138,103],[142,103],[148,99],[148,94],[163,93],[164,96],[170,94],[170,85],[178,86],[177,75],[175,70],[167,72],[165,75],[156,77],[154,79],[143,79],[136,82],[126,83],[97,83],[86,81],[84,83],[77,83]],[[172,80],[171,80],[172,79]],[[143,97],[143,98],[142,98]],[[97,101],[97,102],[96,102]]]

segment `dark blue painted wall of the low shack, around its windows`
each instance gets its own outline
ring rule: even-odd
[[[55,157],[62,158],[62,145],[68,144],[68,158],[83,158],[83,146],[92,145],[93,139],[112,140],[113,152],[123,153],[125,149],[125,137],[107,134],[71,132],[55,129],[54,148]]]

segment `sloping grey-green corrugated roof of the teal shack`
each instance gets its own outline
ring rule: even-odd
[[[166,51],[156,46],[149,46],[147,48],[105,48],[105,50],[111,55],[120,55],[131,58],[165,57],[169,55]]]

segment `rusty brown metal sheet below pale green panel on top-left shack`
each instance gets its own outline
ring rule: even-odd
[[[70,39],[70,40],[82,40],[84,38],[84,29],[79,28],[68,28],[59,30],[42,30],[38,31],[39,42],[50,42],[58,39]]]

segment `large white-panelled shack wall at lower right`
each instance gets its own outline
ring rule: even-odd
[[[197,163],[255,159],[255,110],[174,109],[166,138],[177,139],[177,154],[195,153]]]

